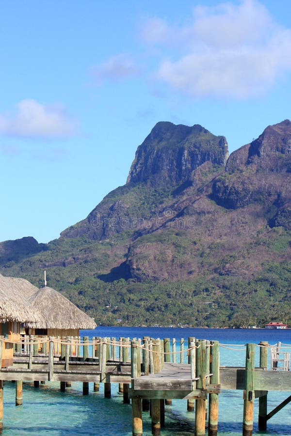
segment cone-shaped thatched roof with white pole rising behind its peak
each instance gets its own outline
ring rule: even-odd
[[[29,327],[79,329],[95,328],[95,321],[67,298],[48,286],[28,298],[29,304],[40,313],[40,321]]]

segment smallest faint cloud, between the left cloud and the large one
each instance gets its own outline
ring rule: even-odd
[[[102,83],[104,80],[115,81],[135,76],[139,69],[131,56],[121,53],[93,68],[92,73],[97,83]]]

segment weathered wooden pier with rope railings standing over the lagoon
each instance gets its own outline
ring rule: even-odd
[[[0,337],[0,356],[7,342]],[[259,430],[265,430],[267,421],[291,401],[289,396],[273,411],[267,411],[268,391],[291,392],[291,372],[286,362],[282,370],[269,362],[268,369],[268,343],[246,344],[244,367],[219,367],[217,341],[189,338],[188,348],[184,347],[184,340],[179,343],[177,350],[176,340],[169,338],[131,341],[93,338],[89,341],[88,337],[82,340],[24,337],[21,343],[14,343],[13,365],[0,371],[0,432],[5,380],[16,381],[16,405],[22,404],[22,381],[33,381],[35,387],[39,382],[59,381],[63,391],[71,382],[82,382],[84,395],[89,394],[89,382],[94,383],[94,391],[99,389],[99,383],[104,383],[104,396],[108,398],[111,384],[118,383],[124,403],[131,399],[134,436],[143,434],[143,413],[148,411],[149,404],[153,435],[160,435],[165,425],[165,402],[184,399],[188,400],[188,410],[195,413],[194,434],[205,435],[208,428],[208,435],[215,436],[221,390],[241,390],[242,435],[251,436],[255,399],[259,401]],[[256,350],[259,367],[255,367]],[[277,357],[280,352],[278,347]],[[290,353],[285,349],[284,356],[290,361]]]

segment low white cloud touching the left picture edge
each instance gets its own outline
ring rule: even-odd
[[[21,100],[13,113],[0,114],[0,134],[28,138],[71,136],[76,124],[60,105],[42,105],[33,99]]]

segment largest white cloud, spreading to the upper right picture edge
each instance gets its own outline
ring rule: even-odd
[[[166,53],[155,77],[194,96],[264,93],[291,71],[291,29],[280,27],[256,0],[197,6],[182,27],[154,17],[142,35]]]

